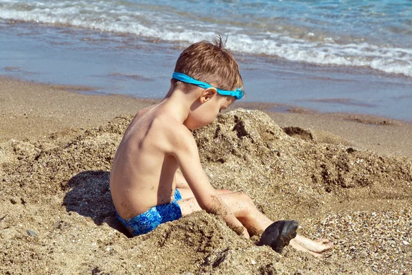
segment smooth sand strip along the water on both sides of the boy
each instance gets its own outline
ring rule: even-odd
[[[0,76],[0,142],[71,135],[133,115],[159,99],[87,94],[93,87],[51,85]],[[37,106],[38,108],[34,108]],[[227,111],[257,109],[281,127],[299,127],[317,142],[341,143],[384,155],[412,157],[412,123],[356,113],[320,113],[285,104],[235,102]],[[280,111],[276,111],[280,110]],[[65,134],[63,134],[65,133]]]

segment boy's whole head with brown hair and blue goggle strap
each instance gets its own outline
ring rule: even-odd
[[[183,123],[189,129],[211,123],[220,110],[244,94],[238,63],[220,36],[214,43],[201,41],[187,47],[176,61],[173,83],[185,92],[196,91]]]

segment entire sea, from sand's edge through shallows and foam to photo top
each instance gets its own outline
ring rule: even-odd
[[[0,74],[162,98],[216,35],[245,102],[412,122],[412,0],[0,0]]]

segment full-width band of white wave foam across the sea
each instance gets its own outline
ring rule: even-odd
[[[311,43],[274,33],[247,35],[238,27],[222,27],[213,23],[193,21],[194,19],[181,19],[154,10],[129,10],[122,5],[117,5],[114,9],[102,1],[93,5],[84,1],[52,1],[47,5],[34,1],[21,8],[19,1],[5,0],[0,10],[0,18],[64,24],[188,43],[210,39],[218,31],[229,33],[227,46],[238,52],[267,54],[290,61],[321,65],[371,67],[390,74],[412,76],[412,49],[382,47],[368,43]]]

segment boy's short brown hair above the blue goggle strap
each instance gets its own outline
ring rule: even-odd
[[[231,52],[225,49],[221,36],[214,43],[201,41],[187,47],[177,59],[174,72],[222,90],[243,89],[239,65]]]

